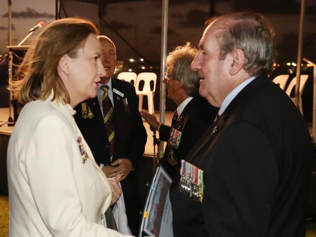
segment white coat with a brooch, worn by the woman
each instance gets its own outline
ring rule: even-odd
[[[23,107],[9,141],[9,236],[123,236],[103,226],[111,188],[72,117],[74,110],[50,98]],[[85,163],[78,137],[88,154]]]

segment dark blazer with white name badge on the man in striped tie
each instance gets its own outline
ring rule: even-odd
[[[117,78],[112,77],[111,80],[112,88],[124,94],[122,97],[113,92],[115,148],[112,162],[125,157],[132,162],[135,169],[121,182],[128,223],[133,234],[135,234],[139,229],[139,212],[141,209],[135,172],[137,172],[139,159],[145,150],[147,134],[138,110],[135,87]],[[126,98],[127,104],[123,102],[123,99]],[[75,107],[77,113],[74,118],[97,164],[110,165],[109,142],[98,99],[95,97],[85,102],[88,103],[94,117],[83,119],[81,104],[79,104]]]

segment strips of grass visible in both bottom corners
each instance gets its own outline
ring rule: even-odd
[[[8,236],[9,226],[9,199],[7,196],[0,196],[0,237]],[[316,237],[316,222],[306,223],[306,237]]]

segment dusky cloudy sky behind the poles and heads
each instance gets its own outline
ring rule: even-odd
[[[68,16],[88,17],[98,23],[97,5],[64,0]],[[27,30],[40,20],[47,23],[55,17],[53,0],[12,0],[13,44],[18,44]],[[306,0],[304,21],[303,56],[316,61],[316,1]],[[159,0],[144,0],[107,4],[103,17],[144,58],[160,61],[161,5]],[[7,45],[7,0],[0,0],[0,52]],[[296,61],[298,47],[298,24],[300,2],[297,0],[217,0],[215,15],[253,10],[266,15],[276,29],[275,43],[279,62]],[[204,21],[209,17],[210,0],[169,0],[168,47],[173,50],[187,41],[197,45],[204,30]],[[101,24],[101,33],[108,35],[117,45],[118,59],[138,56],[117,34]],[[35,32],[36,35],[40,32]],[[32,39],[26,42],[29,44]]]

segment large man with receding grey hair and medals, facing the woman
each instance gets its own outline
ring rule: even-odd
[[[199,48],[199,93],[220,110],[171,186],[175,237],[305,236],[312,144],[298,108],[266,76],[269,25],[255,13],[216,17]]]

